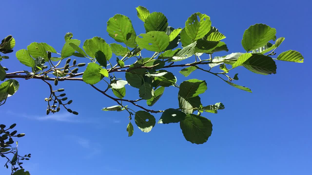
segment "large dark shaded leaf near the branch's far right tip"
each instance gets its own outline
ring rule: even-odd
[[[275,61],[271,57],[260,53],[252,54],[242,65],[251,72],[262,75],[276,73]]]

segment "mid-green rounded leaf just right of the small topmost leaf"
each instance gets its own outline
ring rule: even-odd
[[[146,33],[150,31],[166,31],[168,19],[161,12],[153,12],[144,21]]]

